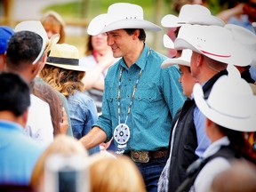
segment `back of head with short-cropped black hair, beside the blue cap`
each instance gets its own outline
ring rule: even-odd
[[[42,60],[44,56],[44,53],[41,52],[42,49],[43,39],[41,36],[31,31],[16,32],[8,43],[6,70],[25,75],[29,74],[28,70],[31,68],[32,74],[24,76],[24,78],[28,81],[33,80],[41,68],[36,62]],[[39,55],[40,53],[43,54]]]

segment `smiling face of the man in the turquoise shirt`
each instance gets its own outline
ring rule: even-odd
[[[113,56],[115,58],[125,56],[128,57],[129,54],[134,50],[134,35],[128,35],[124,29],[109,31],[107,34],[108,46],[111,47]]]

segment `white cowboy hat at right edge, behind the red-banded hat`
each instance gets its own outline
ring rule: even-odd
[[[252,54],[252,62],[249,65],[256,66],[256,35],[247,28],[235,24],[226,24],[224,28],[228,28],[234,40],[239,44],[243,44],[247,52]]]

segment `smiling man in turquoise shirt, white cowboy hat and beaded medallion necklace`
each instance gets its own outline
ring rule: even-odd
[[[81,141],[85,148],[92,148],[113,137],[117,153],[130,156],[147,190],[156,191],[166,162],[172,117],[184,96],[179,68],[160,68],[167,58],[145,44],[144,29],[161,28],[144,20],[136,4],[112,4],[108,13],[90,22],[89,35],[107,33],[113,56],[122,58],[108,69],[102,115]]]

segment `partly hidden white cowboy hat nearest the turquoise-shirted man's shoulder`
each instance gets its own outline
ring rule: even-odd
[[[175,64],[190,67],[191,55],[192,55],[192,50],[184,49],[182,50],[180,57],[164,60],[161,64],[161,68],[167,68]]]

